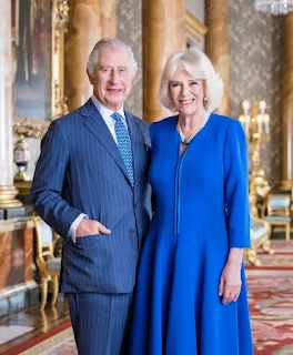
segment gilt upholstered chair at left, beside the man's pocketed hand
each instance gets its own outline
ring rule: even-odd
[[[52,281],[52,306],[57,303],[61,257],[53,255],[53,230],[40,217],[30,217],[34,222],[37,253],[36,261],[41,276],[41,310],[48,297],[48,281]]]

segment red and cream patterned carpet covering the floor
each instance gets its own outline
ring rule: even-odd
[[[260,251],[261,267],[246,267],[254,354],[293,355],[293,241],[274,241],[272,248],[274,255]],[[71,331],[51,341],[30,354],[78,354]]]

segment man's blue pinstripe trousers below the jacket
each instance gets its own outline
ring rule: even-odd
[[[79,355],[124,355],[132,293],[70,293],[69,307]]]

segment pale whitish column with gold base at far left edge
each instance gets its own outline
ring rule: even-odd
[[[0,7],[0,209],[18,207],[13,185],[11,1]]]

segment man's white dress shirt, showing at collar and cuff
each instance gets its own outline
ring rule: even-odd
[[[104,104],[102,104],[95,97],[94,94],[92,95],[92,102],[94,103],[97,110],[100,112],[101,116],[103,118],[104,120],[104,123],[107,124],[110,133],[112,134],[115,143],[118,144],[118,141],[117,141],[117,134],[115,134],[115,120],[111,116],[112,113],[114,112],[118,112],[122,118],[122,122],[125,124],[127,129],[128,129],[128,124],[127,124],[127,120],[125,120],[125,113],[124,113],[124,109],[123,109],[123,105],[121,106],[120,110],[118,111],[113,111],[109,108],[107,108]],[[72,224],[70,225],[70,229],[69,229],[69,233],[68,235],[71,236],[72,239],[72,242],[75,243],[75,233],[77,233],[77,229],[80,224],[80,222],[83,220],[83,219],[89,219],[89,216],[84,213],[81,213],[73,222]]]

